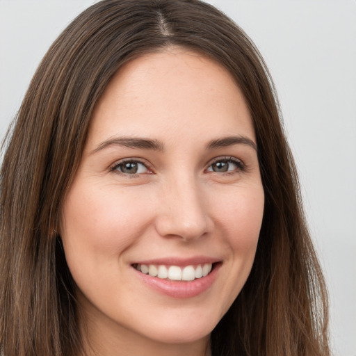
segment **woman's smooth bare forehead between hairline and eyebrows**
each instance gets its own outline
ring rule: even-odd
[[[172,131],[192,139],[197,133],[243,131],[254,140],[250,111],[232,75],[181,47],[145,54],[120,68],[95,106],[88,141],[108,135],[161,139]]]

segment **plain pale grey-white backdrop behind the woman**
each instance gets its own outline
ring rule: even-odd
[[[356,1],[216,0],[275,80],[330,290],[334,354],[356,355]],[[0,0],[0,138],[51,42],[94,0]]]

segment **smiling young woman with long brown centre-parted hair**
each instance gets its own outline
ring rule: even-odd
[[[3,355],[329,355],[259,52],[200,1],[88,8],[1,170]]]

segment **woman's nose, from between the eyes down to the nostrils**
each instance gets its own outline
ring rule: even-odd
[[[194,179],[167,182],[160,195],[156,230],[161,236],[191,241],[211,231],[213,223],[208,213],[207,196]]]

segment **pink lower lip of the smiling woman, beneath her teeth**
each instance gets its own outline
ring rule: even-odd
[[[173,298],[193,298],[195,296],[199,296],[200,294],[204,293],[204,291],[209,289],[209,287],[216,280],[220,266],[220,263],[215,264],[209,275],[202,278],[197,278],[189,282],[162,280],[159,277],[145,275],[140,271],[134,268],[133,269],[137,273],[140,280],[148,284],[148,286],[150,286],[152,289],[165,294],[165,296],[170,296]]]

